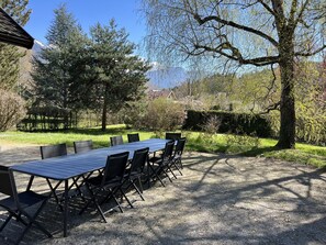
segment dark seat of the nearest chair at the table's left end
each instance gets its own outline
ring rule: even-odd
[[[20,205],[22,209],[25,209],[27,207],[34,205],[41,201],[46,200],[48,197],[35,193],[34,191],[24,191],[18,194],[18,198],[20,200]],[[16,205],[14,202],[14,199],[12,197],[2,199],[0,201],[0,205],[3,208],[8,208],[10,210],[16,210]]]

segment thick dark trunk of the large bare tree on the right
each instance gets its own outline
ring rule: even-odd
[[[294,44],[291,34],[284,33],[280,41],[281,71],[281,125],[277,147],[295,147],[295,107],[294,107]]]

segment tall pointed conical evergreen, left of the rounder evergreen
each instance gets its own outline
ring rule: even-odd
[[[65,5],[55,10],[46,38],[48,47],[34,60],[35,104],[78,109],[87,37]]]

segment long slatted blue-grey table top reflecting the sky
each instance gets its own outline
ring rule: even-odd
[[[167,142],[167,140],[150,138],[112,147],[92,149],[81,154],[27,162],[14,165],[11,169],[48,179],[67,180],[103,168],[109,155],[130,152],[130,158],[132,158],[134,151],[136,149],[149,147],[149,152],[154,153],[164,149]]]

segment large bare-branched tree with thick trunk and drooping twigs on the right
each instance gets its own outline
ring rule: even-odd
[[[326,48],[325,0],[143,0],[148,48],[164,57],[207,56],[279,66],[277,144],[295,146],[294,64]]]

